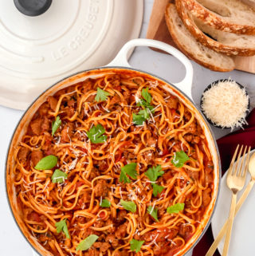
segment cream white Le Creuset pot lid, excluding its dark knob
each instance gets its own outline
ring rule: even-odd
[[[40,2],[40,1],[38,1]],[[0,104],[26,109],[63,77],[108,64],[139,37],[143,0],[53,0],[39,16],[0,0]]]

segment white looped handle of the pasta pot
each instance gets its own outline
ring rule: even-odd
[[[128,41],[121,49],[120,52],[116,55],[116,57],[107,65],[107,66],[124,66],[124,67],[131,67],[128,63],[128,53],[131,49],[135,46],[149,46],[158,49],[162,49],[163,51],[170,53],[171,55],[175,56],[182,64],[185,66],[186,75],[179,83],[175,83],[174,85],[178,87],[183,93],[186,93],[190,99],[193,100],[191,94],[192,88],[192,80],[193,80],[193,67],[190,63],[190,60],[181,53],[178,49],[171,45],[167,45],[162,41],[156,41],[152,39],[145,39],[145,38],[138,38]]]

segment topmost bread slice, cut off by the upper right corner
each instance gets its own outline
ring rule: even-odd
[[[182,0],[182,5],[216,30],[255,34],[255,10],[239,0]]]

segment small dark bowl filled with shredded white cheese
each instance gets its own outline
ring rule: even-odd
[[[230,79],[216,81],[202,94],[202,112],[214,126],[237,128],[247,124],[249,96],[242,85]]]

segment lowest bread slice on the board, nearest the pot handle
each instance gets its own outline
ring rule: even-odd
[[[167,5],[165,17],[171,37],[186,56],[214,71],[227,72],[234,69],[231,57],[217,53],[194,39],[179,18],[174,4]]]

